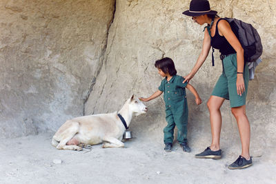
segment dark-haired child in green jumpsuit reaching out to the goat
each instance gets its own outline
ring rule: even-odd
[[[158,70],[158,74],[165,77],[165,79],[161,81],[161,85],[154,94],[146,99],[140,98],[140,100],[150,101],[164,92],[166,121],[168,123],[164,128],[164,150],[166,152],[172,151],[173,132],[176,125],[178,129],[177,141],[179,141],[184,152],[190,152],[187,141],[188,105],[185,88],[188,88],[188,90],[195,95],[195,103],[197,103],[197,105],[201,104],[199,94],[192,85],[187,82],[183,83],[184,78],[177,75],[175,63],[173,63],[172,59],[166,57],[157,60],[155,61],[155,67]]]

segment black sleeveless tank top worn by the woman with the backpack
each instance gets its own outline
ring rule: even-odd
[[[219,19],[217,21],[217,24],[219,24],[220,20],[223,20],[223,19]],[[219,52],[221,52],[221,54],[224,54],[224,55],[236,53],[236,51],[230,45],[230,43],[228,43],[226,38],[219,35],[219,30],[217,29],[217,25],[216,25],[216,29],[215,29],[215,35],[214,35],[214,37],[211,37],[211,46],[213,46],[213,48],[215,48],[215,49],[218,49]]]

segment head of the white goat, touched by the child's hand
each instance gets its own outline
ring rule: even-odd
[[[128,99],[128,108],[135,116],[145,114],[148,108],[134,94]]]

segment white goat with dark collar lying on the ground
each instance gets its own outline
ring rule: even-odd
[[[66,121],[52,137],[52,145],[59,150],[77,151],[82,150],[79,144],[103,143],[103,148],[124,147],[121,140],[126,127],[130,125],[132,116],[146,112],[146,105],[132,95],[118,113],[80,116]],[[120,114],[123,117],[122,120],[119,117]]]

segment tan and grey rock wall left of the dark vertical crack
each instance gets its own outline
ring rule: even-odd
[[[0,137],[83,115],[115,0],[0,1]]]

